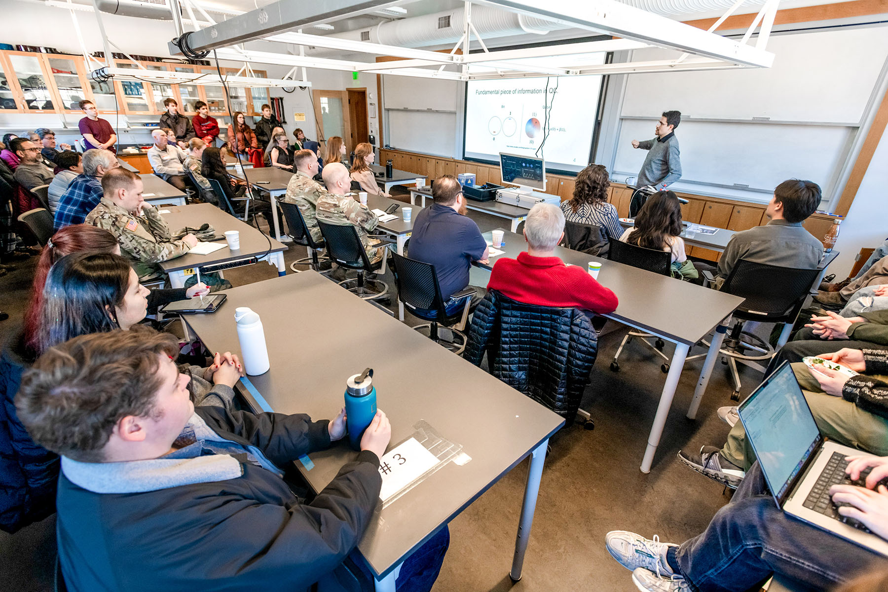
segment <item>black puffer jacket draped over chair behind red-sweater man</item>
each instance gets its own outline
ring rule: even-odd
[[[463,357],[574,421],[598,355],[589,317],[575,308],[523,304],[490,290],[472,317]]]

